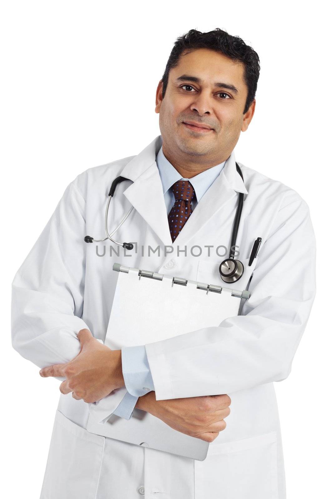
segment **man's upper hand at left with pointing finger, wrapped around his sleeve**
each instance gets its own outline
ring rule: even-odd
[[[67,364],[53,364],[39,371],[40,376],[64,376],[61,393],[72,393],[76,400],[96,402],[116,388],[125,386],[121,350],[111,350],[94,338],[89,329],[77,333],[81,350]]]

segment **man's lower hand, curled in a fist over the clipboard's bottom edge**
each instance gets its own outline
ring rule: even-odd
[[[149,412],[185,435],[213,442],[227,426],[230,414],[229,395],[208,395],[182,399],[156,400],[151,391],[139,397],[135,407]]]

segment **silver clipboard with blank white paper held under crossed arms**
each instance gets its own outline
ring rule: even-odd
[[[143,345],[203,327],[218,326],[238,315],[249,291],[172,277],[113,264],[119,272],[104,344],[112,350]],[[170,310],[182,304],[179,314]],[[203,461],[209,443],[170,428],[150,413],[134,409],[129,420],[112,414],[126,393],[114,390],[91,404],[86,429],[97,435]]]

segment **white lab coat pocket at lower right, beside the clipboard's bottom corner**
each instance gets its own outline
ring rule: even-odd
[[[209,446],[195,461],[195,499],[278,499],[276,432]]]

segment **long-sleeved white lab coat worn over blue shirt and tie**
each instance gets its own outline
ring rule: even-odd
[[[156,399],[227,393],[227,427],[200,462],[91,434],[91,404],[60,394],[40,498],[284,499],[273,382],[291,371],[315,296],[308,206],[294,190],[238,162],[243,183],[232,152],[175,241],[180,250],[187,246],[187,256],[176,248],[164,256],[172,242],[155,162],[161,145],[158,136],[137,156],[90,168],[66,188],[14,277],[12,345],[41,368],[71,360],[80,348],[76,333],[84,327],[104,340],[118,276],[114,262],[234,289],[249,286],[240,315],[146,345]],[[107,195],[117,176],[130,180],[111,201],[109,232],[134,206],[114,238],[137,242],[137,251],[125,256],[120,248],[119,256],[110,256],[106,242],[98,244],[100,255],[105,246],[98,256],[96,244],[83,238],[104,237]],[[245,198],[236,244],[246,270],[237,283],[226,284],[216,247],[230,247],[239,192]],[[262,247],[248,267],[257,237]],[[148,256],[149,246],[160,246],[160,254]],[[194,256],[198,246],[202,253]],[[133,336],[135,344],[141,343]]]

